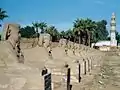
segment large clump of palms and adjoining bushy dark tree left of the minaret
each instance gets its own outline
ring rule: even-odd
[[[106,20],[95,22],[89,18],[76,19],[73,24],[75,38],[78,37],[79,43],[84,45],[91,45],[91,42],[106,40],[108,36],[106,25]]]

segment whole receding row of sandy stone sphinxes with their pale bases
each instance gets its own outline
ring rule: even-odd
[[[44,90],[41,75],[44,67],[52,74],[52,90],[64,90],[66,64],[71,68],[73,90],[82,90],[85,83],[99,71],[104,58],[102,52],[70,41],[66,44],[65,39],[54,47],[49,38],[44,40],[43,45],[32,47],[33,40],[28,43],[21,39],[19,27],[14,23],[4,25],[3,40],[0,41],[0,90]],[[41,37],[38,44],[42,43]],[[81,83],[78,83],[77,62],[81,64]]]

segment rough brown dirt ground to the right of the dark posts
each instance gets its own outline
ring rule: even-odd
[[[85,90],[120,90],[120,56],[106,56],[100,73]]]

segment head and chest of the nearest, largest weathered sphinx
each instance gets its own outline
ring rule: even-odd
[[[2,43],[8,44],[11,51],[16,56],[18,62],[24,63],[24,56],[20,48],[20,30],[18,24],[5,24],[3,29]]]

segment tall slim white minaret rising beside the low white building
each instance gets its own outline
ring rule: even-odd
[[[110,44],[111,46],[117,46],[115,13],[112,13],[110,27]]]

